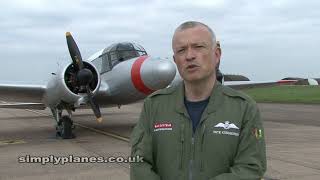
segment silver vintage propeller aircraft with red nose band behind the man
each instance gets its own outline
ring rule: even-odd
[[[0,108],[48,107],[57,122],[57,135],[64,139],[74,137],[71,115],[75,109],[89,105],[101,122],[99,106],[120,106],[141,100],[167,87],[176,75],[172,61],[152,58],[134,43],[113,44],[83,61],[69,32],[66,39],[72,63],[52,73],[46,85],[0,84],[1,100],[21,102],[0,104]],[[68,115],[63,115],[63,110]]]

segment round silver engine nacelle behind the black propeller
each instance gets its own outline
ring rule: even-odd
[[[90,90],[95,94],[100,87],[100,74],[91,62],[83,61],[84,68],[89,69],[93,74],[93,80],[89,84]],[[55,107],[60,103],[78,106],[79,102],[87,96],[81,92],[76,79],[76,69],[71,63],[65,66],[57,74],[52,73],[53,77],[47,84],[45,103],[50,107]]]

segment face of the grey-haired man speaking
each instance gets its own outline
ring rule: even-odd
[[[177,31],[172,48],[174,61],[185,81],[196,82],[215,77],[221,53],[212,43],[212,36],[205,27]]]

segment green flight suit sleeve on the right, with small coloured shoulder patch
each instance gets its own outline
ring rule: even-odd
[[[220,174],[210,180],[260,180],[263,179],[266,167],[262,120],[256,103],[251,103],[245,113],[240,142],[230,173]]]

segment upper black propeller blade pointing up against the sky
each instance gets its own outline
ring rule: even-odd
[[[78,69],[80,70],[83,68],[83,62],[77,43],[73,39],[70,32],[66,32],[66,39],[72,62],[74,65],[77,65]]]

